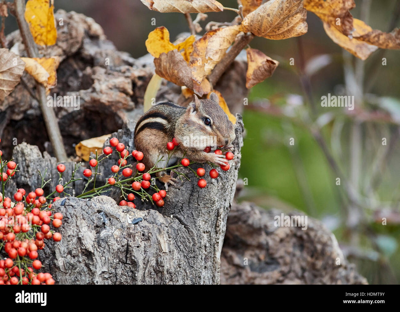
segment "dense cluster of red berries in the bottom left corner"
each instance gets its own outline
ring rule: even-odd
[[[6,165],[7,173],[2,174],[3,187],[6,180],[14,176],[17,166],[14,161],[8,163],[1,161],[2,169]],[[59,168],[60,172],[65,170],[64,165],[58,165],[57,169]],[[57,185],[58,193],[63,190],[62,185]],[[0,194],[0,251],[4,248],[4,252],[8,254],[8,258],[0,260],[0,285],[54,284],[51,274],[34,272],[42,268],[42,262],[37,258],[38,249],[43,249],[45,246],[44,239],[52,238],[56,242],[61,240],[60,233],[50,230],[50,223],[53,227],[59,228],[62,225],[62,215],[60,213],[52,215],[50,210],[52,204],[47,205],[47,198],[43,194],[41,188],[28,194],[24,189],[18,189],[14,193],[14,203],[10,197],[3,199],[4,195]],[[56,197],[54,201],[59,198]],[[36,239],[32,239],[34,235]]]

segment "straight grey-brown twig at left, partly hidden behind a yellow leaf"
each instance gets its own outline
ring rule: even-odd
[[[37,58],[38,48],[36,47],[36,43],[33,40],[32,34],[30,33],[28,24],[26,23],[24,17],[25,1],[15,0],[14,5],[18,28],[20,29],[20,34],[25,45],[26,53],[30,58]],[[36,88],[39,94],[39,105],[42,110],[43,120],[46,125],[50,142],[53,145],[54,154],[56,155],[58,161],[66,161],[67,155],[64,149],[60,128],[58,127],[56,114],[52,108],[49,108],[46,105],[46,89],[41,83],[38,82],[36,82]]]

